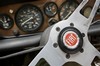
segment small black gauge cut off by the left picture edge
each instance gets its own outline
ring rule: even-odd
[[[8,14],[0,14],[0,27],[8,30],[13,27],[14,21]]]

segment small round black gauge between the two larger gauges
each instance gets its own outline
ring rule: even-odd
[[[57,14],[58,11],[58,6],[56,3],[54,2],[48,2],[45,4],[44,6],[44,13],[48,16],[48,17],[53,17]]]

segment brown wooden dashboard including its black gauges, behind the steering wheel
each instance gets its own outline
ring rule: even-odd
[[[94,1],[94,0],[92,0]],[[43,32],[47,27],[67,19],[81,0],[33,0],[0,6],[0,35],[16,36]],[[92,2],[82,10],[87,18]],[[86,12],[85,12],[86,11]],[[100,10],[94,20],[100,19]]]

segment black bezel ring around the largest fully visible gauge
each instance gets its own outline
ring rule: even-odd
[[[28,30],[23,29],[23,28],[18,24],[19,21],[17,21],[17,15],[18,15],[18,13],[20,12],[21,9],[25,9],[26,6],[27,6],[27,7],[35,7],[35,8],[40,12],[40,14],[41,14],[41,19],[42,19],[41,24],[39,25],[39,27],[35,28],[35,29],[32,30],[32,31],[28,31]],[[17,23],[17,22],[18,22],[18,23]],[[28,4],[24,4],[24,5],[20,6],[19,9],[18,9],[18,10],[16,11],[16,13],[15,13],[15,23],[16,23],[17,27],[18,27],[21,31],[23,31],[23,32],[25,32],[25,33],[32,33],[32,32],[35,32],[35,31],[39,30],[40,27],[42,26],[43,22],[44,22],[43,12],[41,11],[41,9],[40,9],[38,6],[33,5],[33,4],[29,4],[29,3],[28,3]]]

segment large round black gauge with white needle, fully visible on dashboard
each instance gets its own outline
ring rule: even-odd
[[[37,6],[25,4],[16,12],[15,21],[22,31],[34,32],[42,25],[43,14]]]

